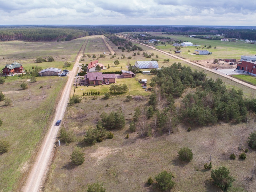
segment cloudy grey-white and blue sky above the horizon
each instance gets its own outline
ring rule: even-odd
[[[256,26],[255,0],[0,0],[0,25]]]

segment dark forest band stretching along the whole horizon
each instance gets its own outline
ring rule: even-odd
[[[144,26],[144,25],[109,25],[109,26],[1,26],[0,41],[69,41],[88,35],[103,35],[136,32],[162,32],[177,35],[216,35],[225,34],[227,38],[256,40],[255,29],[225,29],[209,26]],[[143,37],[147,38],[153,37]]]

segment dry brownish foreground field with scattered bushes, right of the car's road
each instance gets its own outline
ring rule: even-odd
[[[147,106],[147,99],[126,102],[125,96],[116,96],[109,100],[84,98],[81,103],[69,106],[63,122],[66,129],[74,131],[77,140],[69,145],[61,143],[60,147],[56,146],[44,190],[85,191],[88,183],[99,181],[107,191],[158,191],[155,184],[146,184],[147,179],[167,170],[174,174],[175,185],[172,191],[217,192],[221,191],[220,188],[210,179],[210,171],[203,168],[209,162],[211,149],[213,168],[225,165],[236,179],[230,192],[256,190],[256,180],[245,180],[251,175],[255,152],[250,150],[244,161],[238,158],[241,151],[237,150],[237,130],[245,125],[220,122],[214,126],[192,127],[191,132],[187,132],[187,126],[178,125],[171,135],[167,132],[155,134],[152,129],[151,137],[141,138],[139,128],[134,133],[128,130],[134,108],[140,105]],[[95,127],[103,111],[109,113],[117,111],[119,107],[125,113],[125,128],[113,131],[113,139],[86,145],[83,142],[86,130]],[[147,124],[150,125],[151,120]],[[251,126],[253,124],[250,124],[247,134],[251,131]],[[211,147],[215,130],[217,137],[214,147]],[[129,139],[125,139],[127,133],[130,135]],[[69,160],[76,146],[86,154],[85,162],[80,166],[72,166]],[[194,153],[190,163],[183,163],[177,158],[177,151],[183,146],[190,147]],[[243,149],[246,148],[248,146],[243,142]],[[229,159],[232,152],[236,154],[236,160]]]

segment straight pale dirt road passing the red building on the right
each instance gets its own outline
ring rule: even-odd
[[[119,35],[119,36],[120,36],[120,37],[123,37],[123,36],[121,36],[121,35]],[[123,38],[126,38],[126,37],[123,37]],[[126,38],[126,39],[128,39],[128,38]],[[128,39],[128,40],[134,41],[134,40],[132,40],[132,39]],[[139,43],[139,42],[137,42],[137,41],[134,41],[134,42]],[[169,55],[169,56],[174,57],[174,58],[176,58],[176,59],[180,59],[180,60],[182,60],[182,61],[185,61],[186,63],[195,65],[195,66],[200,67],[200,68],[202,68],[202,69],[204,69],[204,70],[206,70],[206,71],[210,71],[210,72],[212,72],[212,73],[218,74],[218,75],[220,75],[220,76],[222,76],[222,77],[225,77],[225,78],[227,78],[227,79],[231,79],[232,81],[234,81],[234,82],[236,82],[236,83],[242,84],[242,85],[244,85],[244,86],[246,86],[246,87],[249,87],[249,88],[251,88],[251,89],[256,90],[256,86],[251,85],[251,84],[246,83],[246,82],[243,82],[243,81],[240,81],[239,79],[233,78],[233,77],[228,76],[228,75],[220,74],[220,73],[218,73],[216,70],[206,68],[206,67],[204,67],[204,66],[202,66],[202,65],[198,65],[197,63],[194,63],[194,62],[189,61],[189,60],[187,60],[187,59],[183,59],[183,58],[178,57],[178,56],[176,56],[176,55],[173,55],[173,54],[171,54],[171,53],[167,53],[167,52],[165,52],[165,51],[156,49],[155,47],[152,47],[152,46],[149,46],[149,45],[146,45],[146,44],[143,44],[143,43],[139,43],[139,44],[142,44],[142,45],[147,46],[147,47],[149,47],[149,48],[151,48],[151,49],[160,51],[160,52],[162,52],[162,53],[164,53],[164,54],[166,54],[166,55]]]

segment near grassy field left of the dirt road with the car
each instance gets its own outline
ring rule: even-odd
[[[37,82],[29,83],[27,78],[8,77],[0,90],[5,97],[13,98],[14,106],[4,106],[0,102],[0,118],[3,124],[0,138],[10,142],[10,151],[0,155],[0,189],[15,191],[23,173],[32,163],[39,141],[47,131],[52,115],[67,79],[58,77],[38,77]],[[21,90],[21,82],[28,89]],[[39,89],[40,86],[43,88]],[[44,94],[43,94],[44,92]]]

